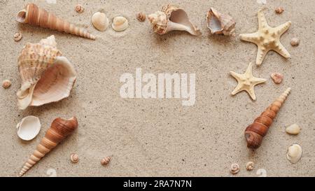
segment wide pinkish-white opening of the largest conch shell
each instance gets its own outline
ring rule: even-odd
[[[38,80],[30,106],[41,106],[69,97],[76,81],[76,71],[66,57],[57,57]]]

